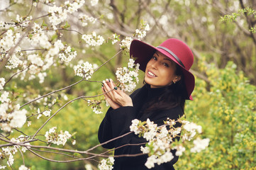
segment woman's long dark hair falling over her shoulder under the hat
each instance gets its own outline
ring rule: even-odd
[[[187,98],[187,89],[184,82],[184,76],[181,67],[177,65],[175,74],[180,76],[181,79],[172,83],[169,86],[165,86],[165,90],[158,98],[153,98],[152,101],[148,103],[148,107],[145,109],[146,112],[167,110],[169,108],[174,108],[180,106],[184,112],[185,100]],[[145,81],[144,81],[145,83]]]

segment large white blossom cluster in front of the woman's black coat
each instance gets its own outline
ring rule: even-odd
[[[182,144],[175,145],[175,139],[180,137],[182,132],[182,127],[174,127],[177,123],[181,123],[184,132],[182,135]],[[179,119],[175,121],[167,119],[164,125],[157,127],[157,124],[154,124],[149,119],[145,122],[135,119],[132,120],[130,131],[148,140],[145,147],[141,146],[140,149],[144,154],[148,154],[149,157],[145,166],[151,169],[155,167],[155,164],[160,165],[165,162],[170,162],[174,158],[172,154],[172,150],[174,149],[176,149],[175,155],[181,156],[186,150],[183,146],[184,142],[192,140],[196,132],[198,132],[198,134],[201,133],[201,126],[190,123],[187,120]],[[193,141],[194,147],[191,148],[191,152],[201,152],[202,149],[208,146],[208,142],[208,138],[204,140],[201,140],[199,137],[196,138],[196,140]]]

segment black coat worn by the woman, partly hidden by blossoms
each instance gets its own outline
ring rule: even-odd
[[[145,121],[149,118],[157,125],[163,125],[163,120],[167,120],[167,118],[177,120],[177,118],[183,115],[182,108],[179,106],[175,108],[170,108],[165,111],[157,111],[157,113],[143,113],[145,109],[145,103],[148,103],[150,99],[159,96],[159,94],[163,91],[163,89],[150,89],[148,85],[143,86],[141,89],[136,90],[133,94],[130,95],[130,98],[133,100],[133,106],[125,106],[121,108],[117,108],[113,110],[109,108],[104,120],[102,120],[101,125],[99,127],[98,138],[99,142],[103,143],[108,140],[111,140],[115,137],[121,136],[130,132],[131,121],[135,118]],[[143,107],[144,106],[144,107]],[[142,114],[143,113],[143,114]],[[114,140],[112,142],[108,142],[103,147],[107,149],[117,148],[122,145],[127,144],[138,144],[147,142],[143,137],[138,137],[134,132],[126,135],[125,137],[121,137],[118,140]],[[140,146],[126,146],[121,147],[120,149],[115,150],[115,155],[121,154],[138,154],[142,153],[140,151]],[[174,152],[173,152],[174,153]],[[115,170],[143,170],[148,169],[145,166],[145,162],[147,161],[148,155],[138,156],[138,157],[120,157],[115,158],[113,169]],[[160,164],[158,166],[155,164],[155,168],[152,169],[174,169],[173,164],[175,164],[178,160],[178,157],[174,156],[171,162]]]

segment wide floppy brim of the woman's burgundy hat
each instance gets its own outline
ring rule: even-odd
[[[177,62],[177,60],[172,55],[170,55],[169,52],[157,47],[153,47],[152,45],[148,45],[147,43],[140,40],[133,40],[130,44],[130,57],[135,58],[135,63],[140,64],[140,70],[142,70],[143,72],[145,72],[148,62],[156,51],[161,52],[163,55],[169,57],[172,61],[177,63],[179,67],[182,68],[182,72],[184,74],[184,82],[188,94],[186,99],[193,100],[191,93],[192,91],[194,91],[195,86],[194,75],[191,74],[191,72],[189,72],[187,69],[182,67],[182,65],[179,64],[179,62]]]

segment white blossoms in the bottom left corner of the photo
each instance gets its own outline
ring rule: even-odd
[[[25,137],[23,135],[20,135],[18,138],[11,138],[11,142],[16,142],[16,143],[21,143],[21,142],[25,142],[28,139],[28,137]],[[27,145],[26,147],[21,147],[18,145],[14,145],[13,147],[3,147],[2,152],[0,152],[0,157],[1,158],[5,158],[7,157],[7,164],[9,166],[11,166],[14,163],[14,157],[13,155],[16,154],[18,152],[18,150],[20,149],[21,152],[26,152],[28,149],[30,148],[29,145],[30,143],[25,143],[25,145]],[[0,166],[0,169],[4,169],[6,168],[6,166]]]

